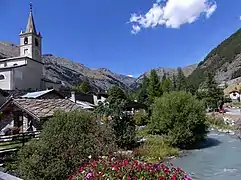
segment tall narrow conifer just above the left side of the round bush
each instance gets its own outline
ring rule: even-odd
[[[148,86],[148,99],[150,102],[153,102],[155,97],[158,97],[162,94],[160,92],[160,81],[156,71],[151,70]]]

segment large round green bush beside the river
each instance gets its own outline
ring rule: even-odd
[[[191,147],[207,133],[203,104],[186,92],[171,92],[156,98],[152,105],[150,130],[166,137],[177,147]]]

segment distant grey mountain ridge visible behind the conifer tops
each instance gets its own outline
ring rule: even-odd
[[[184,75],[188,77],[196,69],[196,67],[197,67],[197,64],[189,65],[189,66],[183,67],[182,71]],[[172,78],[173,74],[177,75],[177,68],[156,68],[155,70],[160,79],[162,79],[164,74],[166,74],[169,78]],[[132,87],[138,86],[138,84],[142,82],[144,76],[149,77],[150,73],[151,71],[148,71],[142,74],[140,77],[138,77],[135,81],[135,84],[133,84]]]

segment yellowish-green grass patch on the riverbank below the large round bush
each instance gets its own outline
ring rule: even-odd
[[[162,136],[148,135],[145,128],[137,134],[144,136],[147,140],[143,145],[136,148],[134,155],[148,162],[157,163],[165,160],[167,157],[178,156],[181,151],[178,148],[170,146]]]

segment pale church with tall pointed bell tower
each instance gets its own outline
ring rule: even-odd
[[[42,36],[36,30],[31,5],[26,29],[20,32],[19,48],[19,57],[0,59],[0,88],[45,89]],[[55,84],[52,85],[54,86]]]

